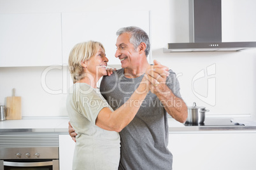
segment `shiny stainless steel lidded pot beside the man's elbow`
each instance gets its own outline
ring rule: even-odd
[[[205,112],[210,110],[205,110],[205,107],[197,107],[196,102],[193,103],[192,107],[188,107],[188,117],[186,124],[203,124],[205,120]]]

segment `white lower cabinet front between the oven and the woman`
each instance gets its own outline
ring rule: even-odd
[[[73,154],[75,150],[75,141],[69,134],[59,135],[59,164],[60,170],[71,170]]]

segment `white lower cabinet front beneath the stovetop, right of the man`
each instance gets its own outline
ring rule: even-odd
[[[256,133],[170,133],[173,170],[254,170]]]

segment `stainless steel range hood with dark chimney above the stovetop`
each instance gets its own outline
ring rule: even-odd
[[[189,0],[189,40],[169,43],[164,52],[241,51],[256,42],[222,42],[222,1]]]

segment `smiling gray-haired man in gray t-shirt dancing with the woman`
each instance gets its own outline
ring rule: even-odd
[[[136,90],[141,75],[149,63],[148,35],[138,27],[125,27],[117,31],[117,52],[122,69],[101,81],[101,94],[115,110],[125,103]],[[155,62],[155,65],[160,63]],[[173,155],[167,149],[167,113],[176,121],[185,122],[187,106],[181,99],[176,75],[169,70],[167,79],[152,72],[158,82],[152,82],[148,93],[134,119],[122,131],[121,159],[118,169],[172,169]],[[69,132],[72,131],[69,128]],[[71,134],[73,136],[73,134]]]

